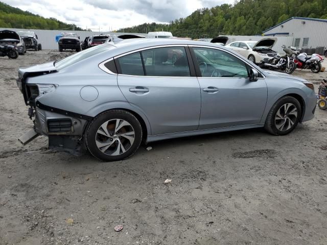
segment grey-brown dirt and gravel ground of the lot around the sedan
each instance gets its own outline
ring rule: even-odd
[[[1,245],[327,244],[327,110],[287,136],[166,140],[120,162],[52,152],[45,137],[20,145],[32,121],[17,68],[70,54],[0,58]]]

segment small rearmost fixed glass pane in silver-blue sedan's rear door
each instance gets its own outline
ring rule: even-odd
[[[141,54],[139,52],[118,58],[121,74],[144,76]]]

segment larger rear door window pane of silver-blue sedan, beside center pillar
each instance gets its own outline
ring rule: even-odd
[[[184,47],[160,47],[142,51],[146,76],[190,77]]]

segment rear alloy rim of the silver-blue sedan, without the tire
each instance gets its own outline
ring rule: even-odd
[[[118,156],[128,151],[135,139],[132,125],[123,119],[105,121],[97,130],[96,144],[104,154]]]

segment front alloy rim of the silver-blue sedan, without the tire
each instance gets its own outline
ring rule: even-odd
[[[278,109],[275,115],[275,126],[279,131],[287,131],[293,127],[296,119],[296,106],[292,103],[286,103]]]

